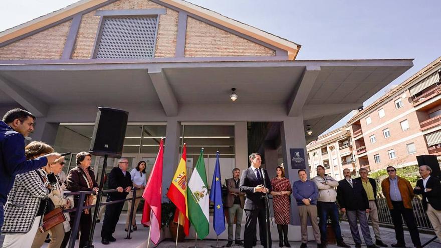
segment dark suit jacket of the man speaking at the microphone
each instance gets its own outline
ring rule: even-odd
[[[259,172],[261,173],[260,169]],[[265,170],[265,182],[267,184],[267,188],[271,191],[272,190],[271,180],[270,177],[268,176],[267,170]],[[242,177],[239,184],[239,189],[241,190],[241,192],[247,193],[247,199],[245,200],[244,209],[253,210],[256,209],[257,207],[265,207],[265,202],[261,198],[264,195],[264,193],[253,192],[254,188],[260,184],[263,184],[263,178],[262,181],[260,182],[257,179],[256,174],[254,174],[252,167],[249,167],[248,169],[242,171]]]

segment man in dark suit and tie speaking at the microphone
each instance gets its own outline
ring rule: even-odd
[[[258,219],[260,241],[262,245],[267,248],[267,235],[271,247],[271,233],[269,232],[270,227],[265,221],[266,202],[263,196],[265,193],[271,192],[271,181],[269,179],[268,172],[265,171],[265,182],[268,187],[265,188],[263,175],[260,171],[262,158],[259,153],[252,153],[249,156],[249,160],[251,162],[251,166],[242,172],[239,186],[241,192],[247,193],[247,199],[245,200],[244,206],[245,217],[247,220],[245,223],[244,232],[245,248],[251,248],[253,246]],[[267,212],[267,216],[270,216],[269,212]]]

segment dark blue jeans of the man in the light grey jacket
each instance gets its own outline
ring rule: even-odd
[[[320,227],[320,239],[322,243],[327,240],[327,226],[328,226],[328,217],[331,217],[332,229],[335,232],[335,237],[337,242],[343,241],[343,237],[341,236],[341,229],[338,219],[338,207],[336,202],[317,202],[317,211],[318,216],[320,218],[319,227]]]

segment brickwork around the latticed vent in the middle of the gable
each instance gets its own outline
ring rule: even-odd
[[[106,5],[98,10],[136,10],[136,9],[164,9],[146,0],[120,0]],[[167,9],[167,14],[159,15],[159,27],[156,40],[155,58],[174,57],[176,51],[178,13]],[[90,59],[98,30],[100,17],[95,11],[83,15],[80,29],[75,42],[73,59]]]

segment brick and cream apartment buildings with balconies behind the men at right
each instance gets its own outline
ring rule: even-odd
[[[416,164],[418,155],[441,155],[440,79],[441,57],[357,111],[342,128],[319,136],[307,146],[312,174],[318,164],[338,179],[344,168],[357,174],[361,167],[404,167]],[[346,139],[350,154],[339,146]]]

